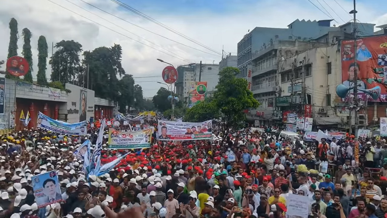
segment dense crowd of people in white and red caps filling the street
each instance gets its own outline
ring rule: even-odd
[[[93,149],[97,128],[86,137],[44,129],[3,135],[0,218],[283,218],[294,195],[308,202],[300,217],[387,218],[384,139],[358,138],[357,156],[352,137],[301,144],[277,130],[224,132],[214,125],[211,140],[195,141],[154,135],[151,147],[130,151],[100,176],[85,175],[84,160],[73,154],[87,139]],[[102,164],[128,152],[108,149],[107,134]],[[61,200],[38,208],[33,176],[50,171]]]

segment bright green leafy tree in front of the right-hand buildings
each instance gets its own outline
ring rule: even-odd
[[[253,93],[247,88],[247,81],[236,78],[239,69],[226,67],[219,72],[219,82],[214,92],[214,104],[221,112],[224,128],[236,127],[245,120],[243,110],[257,108],[259,102],[254,99]]]

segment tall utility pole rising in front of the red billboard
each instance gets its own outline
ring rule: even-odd
[[[358,43],[356,42],[356,32],[357,32],[357,26],[356,26],[356,0],[353,0],[353,38],[354,38],[354,52],[353,52],[353,95],[354,95],[354,116],[355,116],[355,128],[354,128],[354,135],[358,133],[358,125],[359,125],[359,117],[358,117],[358,65],[356,63],[356,54],[358,50]],[[352,130],[352,126],[350,126]]]

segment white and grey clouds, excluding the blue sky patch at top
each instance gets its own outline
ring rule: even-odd
[[[104,21],[103,19],[86,12],[71,3],[68,3],[65,0],[52,0],[63,7],[70,9],[82,16],[85,16],[92,21],[98,22],[108,28],[113,29],[123,35],[127,35],[135,40],[138,40],[144,44],[147,44],[151,47],[156,47],[159,50],[163,50],[166,53],[166,50],[160,48],[156,45],[153,45],[146,40],[143,40],[132,33],[128,33],[123,29],[127,29],[130,32],[135,33],[147,40],[161,45],[167,50],[171,51],[175,56],[181,56],[183,59],[188,60],[189,62],[200,62],[216,63],[220,61],[220,57],[216,55],[205,54],[191,48],[187,48],[183,45],[171,42],[160,36],[156,36],[152,33],[149,33],[143,29],[140,29],[132,24],[129,24],[125,21],[112,17],[104,12],[99,11],[85,3],[82,3],[79,0],[69,0],[76,5],[79,5],[87,10],[90,10],[94,14],[101,16],[107,19],[110,22],[122,27],[119,28],[109,22]],[[327,3],[332,5],[331,7],[336,10],[342,19],[349,21],[351,17],[348,14],[344,14],[344,10],[338,7],[334,0],[325,0]],[[205,48],[196,45],[181,36],[175,35],[166,29],[157,26],[156,24],[146,21],[139,16],[136,16],[125,10],[123,8],[118,8],[118,5],[110,1],[105,0],[87,0],[87,2],[92,3],[98,7],[101,7],[104,10],[115,14],[118,17],[133,22],[143,28],[154,31],[160,35],[171,38],[178,42],[184,43],[191,47],[195,47],[206,52],[210,52]],[[315,2],[315,1],[314,1]],[[351,2],[346,2],[344,0],[337,0],[342,7],[348,9],[348,11],[353,6]],[[375,1],[376,2],[376,1]],[[109,29],[106,29],[98,24],[95,24],[92,21],[84,19],[68,10],[65,10],[48,0],[2,0],[2,6],[0,7],[0,60],[6,59],[8,52],[8,43],[9,43],[9,28],[8,23],[12,17],[15,17],[19,23],[19,34],[21,36],[21,30],[25,27],[29,28],[33,33],[32,38],[32,47],[34,55],[34,73],[33,76],[36,78],[37,72],[37,41],[40,35],[46,36],[47,42],[49,44],[49,50],[51,51],[51,43],[59,42],[60,40],[75,40],[83,45],[84,50],[92,50],[100,46],[111,46],[114,43],[122,45],[123,48],[123,57],[122,63],[125,71],[127,73],[133,74],[135,77],[139,76],[153,76],[155,78],[138,78],[137,81],[161,81],[161,70],[165,64],[156,61],[156,58],[163,59],[164,61],[171,62],[175,66],[179,64],[187,64],[179,59],[175,59],[167,54],[164,54],[160,51],[154,50],[150,47],[142,45],[134,40],[126,38],[120,34],[117,34]],[[130,3],[129,3],[130,5]],[[318,5],[316,3],[316,5]],[[251,4],[248,7],[246,5],[235,4],[235,12],[227,12],[223,14],[210,13],[208,10],[204,12],[198,12],[194,14],[179,14],[174,15],[174,13],[169,14],[148,14],[146,11],[145,14],[157,19],[160,22],[163,22],[165,25],[170,26],[173,29],[178,30],[179,32],[193,38],[212,49],[221,52],[222,46],[224,45],[224,50],[226,52],[236,52],[236,45],[238,41],[243,37],[247,30],[252,30],[255,26],[266,26],[266,27],[277,27],[277,28],[286,28],[286,26],[294,21],[295,19],[327,19],[327,17],[316,9],[309,2],[305,1],[291,1],[284,0],[281,1],[281,6],[279,7],[278,2],[271,0],[261,0],[255,4]],[[319,6],[319,5],[318,5]],[[135,7],[135,5],[133,6]],[[372,8],[372,5],[364,5],[359,3],[358,7],[358,19],[361,22],[373,22],[378,25],[387,23],[387,14],[377,14],[375,9]],[[334,15],[328,7],[330,14],[336,18],[338,22],[341,20]],[[138,8],[137,8],[138,9]],[[19,39],[19,54],[21,54],[22,48],[22,38]],[[50,78],[50,70],[47,72],[47,77]],[[153,96],[160,84],[156,82],[148,83],[139,83],[144,89],[144,96],[151,97]]]

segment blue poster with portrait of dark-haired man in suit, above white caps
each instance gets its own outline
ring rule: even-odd
[[[62,201],[60,183],[55,171],[33,176],[31,180],[35,202],[38,204],[38,208]]]

